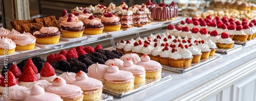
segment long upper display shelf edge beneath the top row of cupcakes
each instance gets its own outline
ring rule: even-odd
[[[15,61],[22,60],[22,59],[26,59],[26,58],[31,58],[31,57],[34,57],[34,56],[37,56],[37,55],[48,54],[50,52],[59,51],[59,50],[63,50],[63,49],[68,49],[68,48],[72,48],[72,47],[76,47],[76,46],[89,45],[89,44],[92,44],[92,43],[97,43],[97,42],[101,42],[101,41],[105,41],[105,40],[111,40],[111,39],[114,39],[114,38],[129,36],[129,35],[133,35],[133,34],[136,34],[136,33],[139,33],[139,32],[165,27],[168,24],[177,24],[181,20],[184,20],[184,19],[185,19],[184,17],[177,17],[175,20],[171,20],[171,21],[154,21],[153,23],[151,23],[152,25],[138,27],[137,29],[134,29],[134,30],[131,30],[131,31],[130,30],[124,30],[124,31],[120,31],[119,33],[115,33],[114,35],[113,34],[112,35],[106,35],[106,36],[103,36],[103,37],[94,37],[94,38],[88,37],[88,39],[82,40],[82,41],[70,42],[70,43],[65,43],[65,44],[59,45],[59,46],[45,47],[45,48],[41,48],[39,50],[27,52],[27,53],[20,53],[20,54],[16,54],[16,55],[11,55],[11,56],[8,56],[8,63],[15,62]],[[4,65],[4,59],[1,59],[0,60],[0,66],[3,66],[3,65]]]

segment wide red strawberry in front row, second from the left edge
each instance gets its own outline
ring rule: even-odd
[[[18,78],[18,81],[34,82],[34,81],[38,81],[38,78],[34,73],[34,71],[32,70],[31,66],[28,66],[28,69],[22,73],[22,75]]]

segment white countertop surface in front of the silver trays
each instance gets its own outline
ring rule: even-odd
[[[254,39],[256,40],[256,39]],[[243,46],[231,54],[223,54],[222,58],[211,61],[184,74],[163,70],[172,75],[172,80],[154,85],[150,88],[115,100],[170,100],[201,84],[235,69],[237,66],[256,58],[256,43]],[[255,61],[256,64],[256,61]],[[203,89],[202,89],[203,91]]]

